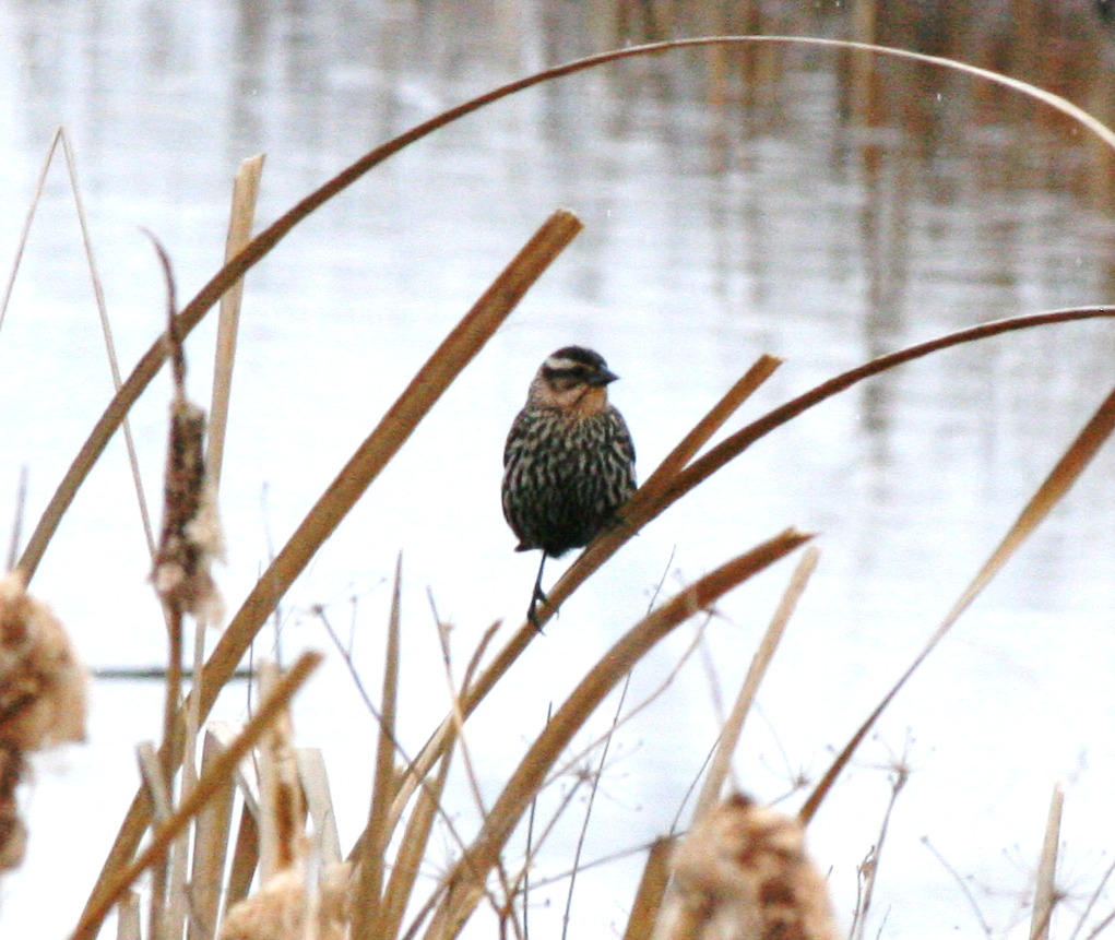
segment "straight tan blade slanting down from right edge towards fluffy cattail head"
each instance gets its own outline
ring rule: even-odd
[[[1038,488],[1038,492],[1035,493],[1029,503],[1026,504],[1026,507],[1015,521],[1010,531],[1007,532],[1002,541],[991,553],[991,556],[977,572],[971,583],[960,595],[960,599],[956,602],[956,604],[953,604],[952,610],[949,611],[941,626],[937,628],[933,636],[925,645],[925,648],[918,655],[910,668],[902,673],[898,682],[895,682],[891,690],[883,697],[883,700],[879,702],[871,715],[867,716],[867,720],[860,726],[856,733],[852,736],[852,739],[844,746],[844,749],[840,753],[840,755],[837,755],[833,765],[828,768],[824,777],[817,784],[816,788],[812,794],[809,794],[808,800],[806,800],[805,804],[802,806],[801,818],[804,823],[808,823],[809,820],[813,818],[813,815],[821,806],[822,801],[832,788],[833,783],[835,783],[836,777],[846,766],[847,762],[852,759],[852,755],[855,753],[855,749],[860,746],[864,737],[866,737],[867,731],[871,730],[872,726],[879,719],[879,716],[883,714],[886,706],[891,704],[894,696],[899,694],[899,690],[917,671],[918,667],[925,661],[925,658],[933,651],[944,634],[952,629],[952,624],[960,619],[960,614],[962,614],[972,601],[979,597],[980,592],[987,587],[988,582],[990,582],[990,580],[1015,554],[1018,546],[1026,541],[1030,533],[1034,532],[1040,522],[1049,514],[1049,511],[1056,505],[1057,501],[1060,500],[1066,492],[1068,492],[1068,488],[1076,482],[1077,477],[1096,455],[1101,445],[1103,445],[1103,443],[1111,436],[1113,429],[1115,429],[1115,389],[1113,389],[1108,394],[1107,398],[1104,399],[1103,404],[1096,410],[1095,415],[1092,416],[1092,419],[1087,423],[1087,425],[1085,425],[1076,440],[1073,442],[1072,446],[1065,452],[1065,455],[1057,462],[1057,465],[1053,468],[1049,476],[1046,477],[1045,482]]]

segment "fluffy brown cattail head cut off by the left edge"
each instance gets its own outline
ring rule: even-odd
[[[88,678],[54,612],[19,570],[0,576],[0,871],[23,861],[16,787],[25,754],[85,740]]]

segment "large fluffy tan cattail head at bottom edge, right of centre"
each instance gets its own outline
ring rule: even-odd
[[[736,795],[678,845],[657,933],[669,940],[836,940],[802,824]]]

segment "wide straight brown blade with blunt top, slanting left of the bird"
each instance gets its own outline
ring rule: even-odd
[[[322,542],[340,524],[460,370],[507,318],[531,284],[581,227],[576,216],[565,211],[555,212],[542,225],[418,370],[376,429],[321,495],[229,623],[195,684],[191,697],[200,696],[198,715],[202,720],[213,707],[217,692],[232,678],[237,663],[275,603]],[[164,766],[176,765],[181,759],[181,750],[172,750],[161,757]],[[137,795],[109,851],[94,895],[101,890],[105,879],[132,857],[147,820],[146,802]]]

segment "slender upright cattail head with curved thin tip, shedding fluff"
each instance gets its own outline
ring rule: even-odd
[[[167,284],[167,329],[174,399],[163,486],[163,532],[155,553],[152,581],[167,608],[215,624],[221,595],[210,574],[224,556],[224,536],[216,496],[205,473],[205,411],[186,398],[186,359],[175,327],[174,275],[163,246],[154,238]]]

